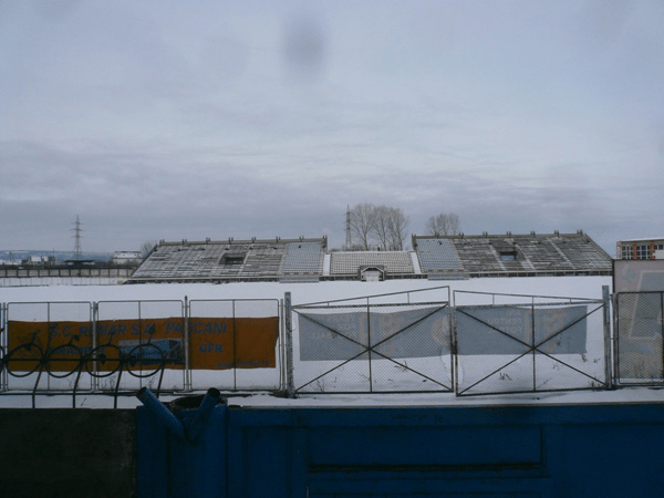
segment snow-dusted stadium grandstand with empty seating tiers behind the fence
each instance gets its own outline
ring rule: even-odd
[[[411,251],[328,251],[328,239],[162,241],[128,283],[610,276],[587,234],[417,236]]]

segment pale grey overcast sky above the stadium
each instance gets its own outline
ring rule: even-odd
[[[664,237],[664,3],[0,0],[0,249]],[[409,240],[408,240],[409,243]]]

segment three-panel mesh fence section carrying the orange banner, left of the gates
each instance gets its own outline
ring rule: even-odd
[[[17,302],[0,307],[0,391],[282,387],[279,301]]]

